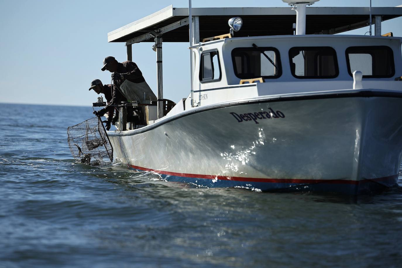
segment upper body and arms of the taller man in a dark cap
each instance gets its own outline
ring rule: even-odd
[[[135,84],[145,82],[142,72],[139,70],[137,64],[135,64],[133,61],[123,61],[120,63],[115,59],[115,57],[109,56],[103,60],[103,68],[101,70],[108,70],[109,72],[113,73],[112,80],[115,88],[112,102],[114,104],[116,102],[118,104],[120,103],[120,101],[115,100],[115,94],[117,95],[117,92],[120,92],[119,88],[125,80]]]

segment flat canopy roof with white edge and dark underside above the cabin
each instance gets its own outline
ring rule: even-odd
[[[372,7],[375,16],[389,20],[402,16],[402,6]],[[296,12],[291,7],[192,8],[198,17],[199,40],[229,32],[228,19],[240,16],[243,27],[235,37],[293,35]],[[189,9],[172,5],[108,33],[108,42],[154,42],[153,33],[164,42],[189,42]],[[309,7],[306,34],[335,34],[369,25],[369,7]],[[154,32],[153,32],[154,31]]]

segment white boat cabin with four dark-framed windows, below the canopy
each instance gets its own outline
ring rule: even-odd
[[[401,43],[400,37],[357,35],[240,37],[201,43],[195,53],[195,102],[293,93],[292,84],[303,91],[323,90],[322,82],[326,89],[347,89],[353,87],[354,71],[363,73],[365,86],[371,81],[394,82],[402,76]],[[249,82],[263,84],[252,93],[244,89],[250,88]]]

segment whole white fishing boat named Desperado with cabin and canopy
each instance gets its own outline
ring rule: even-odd
[[[109,33],[128,60],[132,44],[155,43],[158,66],[158,99],[122,104],[118,130],[107,132],[115,161],[199,187],[361,194],[396,186],[402,38],[381,35],[381,22],[402,16],[402,6],[283,2],[190,1]],[[334,35],[367,25],[364,36]],[[163,98],[162,41],[190,41],[191,87],[177,103]]]

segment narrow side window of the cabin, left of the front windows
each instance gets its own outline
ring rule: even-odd
[[[221,79],[221,67],[218,51],[209,51],[201,54],[199,80],[201,82]]]

